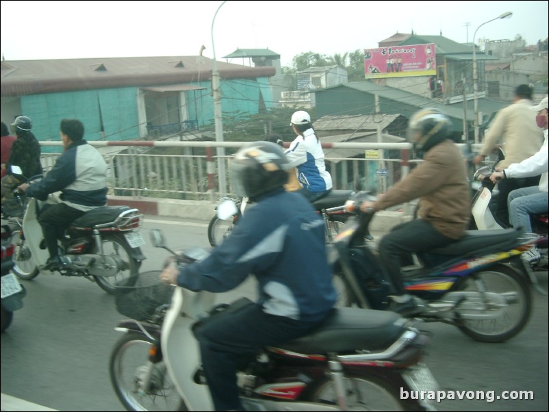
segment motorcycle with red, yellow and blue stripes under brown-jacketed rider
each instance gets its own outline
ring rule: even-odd
[[[334,272],[348,292],[348,305],[384,310],[392,287],[385,279],[379,256],[363,239],[373,209],[359,209],[375,201],[363,192],[340,207],[355,214],[334,240]],[[467,231],[448,246],[416,254],[417,264],[403,267],[405,289],[425,302],[418,315],[426,322],[457,326],[480,342],[504,342],[522,331],[531,315],[531,285],[541,289],[520,255],[535,237],[515,229]]]

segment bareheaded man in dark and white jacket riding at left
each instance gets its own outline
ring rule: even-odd
[[[19,186],[28,197],[41,201],[61,191],[61,203],[46,204],[38,214],[50,256],[46,270],[62,268],[58,240],[71,222],[86,211],[107,204],[107,164],[101,153],[84,140],[84,124],[65,118],[60,123],[60,136],[64,151],[46,177]]]

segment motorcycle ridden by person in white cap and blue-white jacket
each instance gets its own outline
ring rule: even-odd
[[[353,193],[355,192],[352,190],[331,190],[326,196],[313,202],[313,207],[322,216],[322,219],[324,219],[324,231],[326,233],[327,244],[330,244],[333,241],[333,237],[342,230],[349,217],[344,211],[328,212],[327,209],[329,207],[341,205],[350,198]],[[218,218],[217,214],[215,214],[209,221],[207,234],[211,246],[216,246],[227,239],[227,237],[231,235],[233,227],[237,224],[238,219],[244,214],[244,209],[253,205],[252,203],[248,203],[247,198],[241,200],[238,198],[222,197],[219,201],[232,201],[237,208],[235,214],[229,216],[229,218],[225,220]]]

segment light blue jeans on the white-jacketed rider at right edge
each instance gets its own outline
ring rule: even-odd
[[[526,233],[532,232],[531,214],[547,211],[547,192],[540,192],[538,186],[513,190],[507,198],[509,220],[515,229],[522,228]]]

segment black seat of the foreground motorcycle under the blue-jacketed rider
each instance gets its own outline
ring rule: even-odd
[[[319,329],[277,348],[303,354],[383,350],[390,346],[405,327],[403,318],[390,311],[340,307]]]

